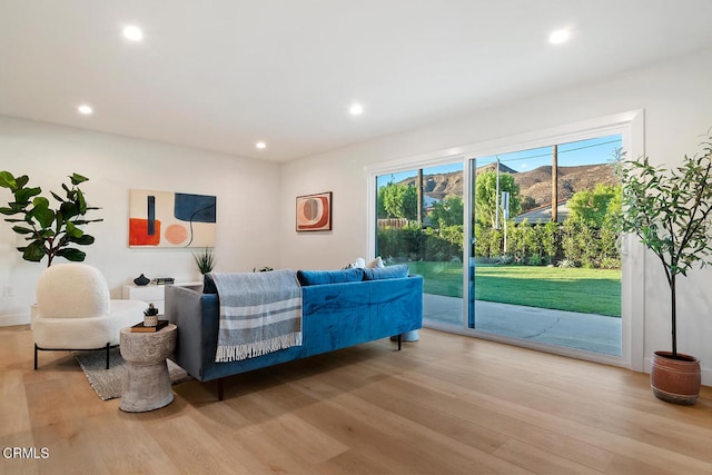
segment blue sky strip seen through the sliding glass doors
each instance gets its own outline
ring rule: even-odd
[[[623,138],[620,135],[597,137],[595,139],[578,140],[570,144],[558,145],[558,166],[574,167],[577,165],[606,164],[613,160],[615,150],[623,146]],[[516,171],[530,171],[544,165],[552,165],[552,147],[533,148],[511,154],[477,158],[477,167],[482,167],[496,161]],[[442,165],[423,169],[424,175],[448,174],[462,171],[462,162]],[[398,182],[409,177],[415,177],[417,170],[402,171],[398,174],[382,175],[377,179],[377,186],[387,185],[389,181]]]

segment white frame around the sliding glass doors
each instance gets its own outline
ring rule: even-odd
[[[447,165],[461,161],[463,165],[464,182],[472,187],[472,170],[469,160],[477,157],[490,157],[531,148],[546,147],[554,144],[566,144],[577,140],[592,139],[607,135],[621,135],[625,159],[644,156],[644,110],[631,110],[611,116],[603,116],[575,123],[563,125],[532,132],[507,136],[494,140],[468,144],[462,147],[436,150],[428,154],[416,155],[365,167],[367,175],[367,251],[370,258],[375,258],[376,248],[376,177],[380,175],[408,171],[417,168],[429,168],[438,165]],[[463,197],[465,216],[471,215],[471,199]],[[472,236],[469,219],[464,219],[464,239]],[[468,259],[468,247],[464,247],[463,261]],[[644,286],[645,253],[642,245],[623,236],[621,241],[621,318],[622,318],[622,355],[597,355],[573,348],[553,347],[532,342],[515,340],[498,337],[492,334],[466,328],[466,315],[463,315],[463,328],[454,329],[451,326],[428,324],[428,327],[446,331],[462,333],[485,339],[500,340],[523,347],[531,347],[547,353],[562,354],[576,358],[623,366],[636,372],[644,368]],[[633,265],[633,263],[635,265]],[[468,289],[467,273],[463,273],[463,289]],[[463,298],[468,298],[463,297]],[[465,300],[466,301],[466,300]],[[467,306],[463,305],[463,314]]]

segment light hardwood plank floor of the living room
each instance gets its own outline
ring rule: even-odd
[[[712,388],[655,399],[646,375],[422,330],[174,386],[150,413],[101,402],[68,353],[0,328],[0,442],[49,458],[2,474],[712,474]]]

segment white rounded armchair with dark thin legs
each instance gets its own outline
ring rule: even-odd
[[[37,283],[32,316],[34,369],[38,350],[107,350],[120,342],[123,327],[142,321],[146,304],[111,300],[99,269],[86,264],[56,264]]]

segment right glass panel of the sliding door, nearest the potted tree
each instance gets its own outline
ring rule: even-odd
[[[466,326],[621,356],[620,135],[472,159]]]

